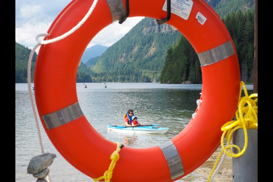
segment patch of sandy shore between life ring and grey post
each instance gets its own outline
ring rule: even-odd
[[[199,181],[203,182],[208,179],[218,155],[219,155],[219,152],[214,152],[214,154],[212,154],[212,156],[210,156],[210,158],[204,164],[202,164],[200,167],[198,167],[197,169],[193,171],[193,173],[200,175],[200,177],[194,180],[194,182],[199,182]],[[224,161],[226,161],[226,163],[224,162],[221,165],[220,170],[216,173],[216,175],[212,179],[213,182],[232,182],[232,158],[226,155]]]

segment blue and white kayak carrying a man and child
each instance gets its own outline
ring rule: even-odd
[[[125,126],[115,126],[107,125],[108,131],[115,131],[118,133],[153,133],[153,134],[164,134],[170,128],[161,128],[159,125],[147,125],[147,126],[137,126],[137,127],[125,127]]]

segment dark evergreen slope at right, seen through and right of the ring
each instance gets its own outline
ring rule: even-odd
[[[234,42],[239,59],[241,80],[253,83],[254,63],[254,13],[247,9],[245,13],[231,11],[223,19]],[[188,40],[181,36],[177,44],[167,51],[161,83],[180,84],[190,81],[201,84],[202,73],[197,54]]]

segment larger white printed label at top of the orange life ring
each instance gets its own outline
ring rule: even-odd
[[[192,7],[192,0],[171,0],[171,13],[180,16],[185,20],[189,18]],[[167,0],[165,1],[162,10],[167,11]]]

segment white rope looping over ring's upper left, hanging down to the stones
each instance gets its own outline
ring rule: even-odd
[[[59,40],[62,40],[64,38],[66,38],[67,36],[73,34],[76,30],[78,30],[78,28],[80,28],[80,26],[82,26],[82,24],[84,24],[84,22],[86,22],[86,20],[89,18],[89,16],[93,12],[94,8],[96,7],[97,2],[98,2],[98,0],[94,0],[92,6],[90,7],[89,11],[84,16],[84,18],[75,27],[73,27],[71,30],[69,30],[65,34],[63,34],[63,35],[61,35],[59,37],[50,39],[50,40],[43,40],[43,41],[40,41],[39,37],[41,37],[41,36],[46,37],[46,36],[48,36],[48,34],[38,34],[36,36],[36,41],[38,42],[38,44],[30,52],[30,55],[29,55],[29,58],[28,58],[28,93],[29,93],[30,102],[31,102],[31,106],[32,106],[32,111],[33,111],[35,122],[36,122],[36,128],[37,128],[37,131],[38,131],[39,142],[40,142],[42,154],[45,153],[44,152],[44,146],[43,146],[43,142],[42,142],[42,136],[41,136],[41,132],[40,132],[40,127],[39,127],[38,118],[37,118],[37,115],[36,115],[36,110],[35,110],[35,106],[34,106],[34,99],[32,97],[32,91],[31,91],[31,85],[30,85],[31,84],[31,62],[32,62],[34,52],[37,49],[37,47],[41,46],[42,44],[50,44],[50,43],[53,43],[53,42],[57,42]],[[47,181],[51,182],[49,174],[46,177],[47,177]]]

